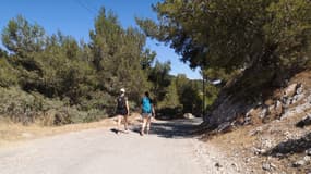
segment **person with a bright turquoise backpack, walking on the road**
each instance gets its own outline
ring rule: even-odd
[[[145,92],[143,99],[142,99],[142,129],[141,129],[141,136],[144,135],[145,127],[147,127],[147,134],[149,134],[151,129],[151,122],[152,116],[155,115],[155,110],[153,107],[152,99],[149,98],[149,92]]]

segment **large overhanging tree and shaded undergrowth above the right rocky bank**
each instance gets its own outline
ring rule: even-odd
[[[205,78],[223,82],[204,115],[208,128],[244,114],[239,105],[265,101],[311,67],[308,0],[166,0],[153,8],[158,21],[136,18],[146,36],[169,45]]]

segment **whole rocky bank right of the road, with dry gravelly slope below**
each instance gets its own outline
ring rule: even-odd
[[[310,71],[255,104],[220,97],[205,117],[204,139],[240,161],[242,173],[311,173]]]

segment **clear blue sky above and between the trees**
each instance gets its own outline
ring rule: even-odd
[[[61,30],[76,39],[88,41],[88,32],[94,27],[94,18],[100,7],[112,10],[127,28],[137,27],[134,17],[148,17],[156,20],[152,11],[152,3],[159,0],[2,0],[0,5],[0,29],[9,20],[22,14],[31,23],[43,26],[48,35]],[[170,61],[170,74],[186,74],[191,79],[199,79],[199,70],[193,71],[179,61],[175,51],[155,40],[147,40],[146,46],[157,52],[160,62]]]

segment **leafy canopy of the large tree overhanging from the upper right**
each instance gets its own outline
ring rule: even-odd
[[[168,44],[191,67],[226,73],[260,64],[303,69],[310,60],[310,3],[165,0],[154,5],[158,22],[136,21],[147,36]]]

